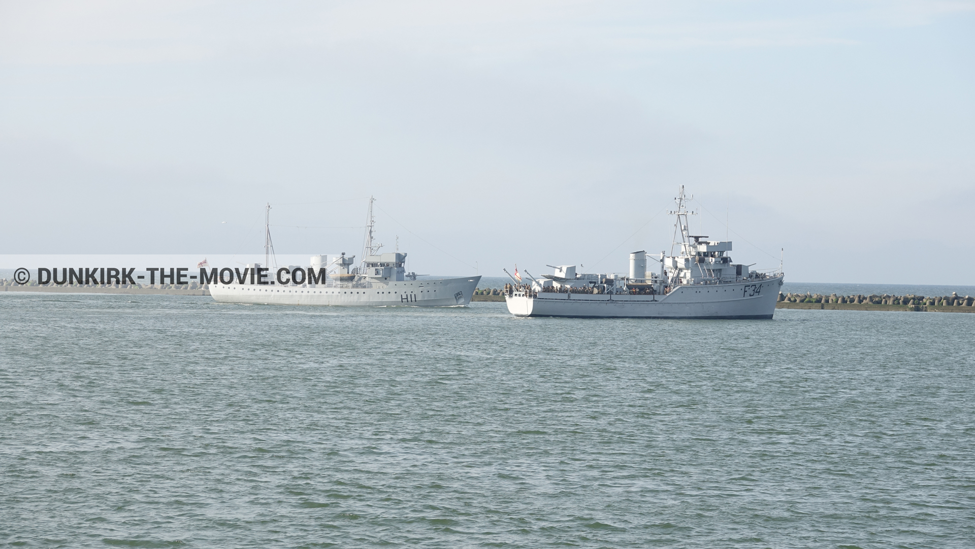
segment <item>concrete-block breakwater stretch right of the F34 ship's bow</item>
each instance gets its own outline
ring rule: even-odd
[[[939,311],[975,313],[975,299],[951,295],[891,294],[779,294],[779,309],[827,309],[856,311]]]

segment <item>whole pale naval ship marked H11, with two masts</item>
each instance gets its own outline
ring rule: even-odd
[[[370,198],[365,258],[359,266],[353,266],[354,255],[344,252],[331,261],[327,255],[312,255],[309,267],[262,269],[253,263],[243,273],[235,273],[236,277],[231,274],[229,283],[217,280],[211,284],[210,294],[223,303],[265,305],[453,307],[470,303],[480,276],[417,280],[416,273],[407,272],[406,254],[378,254],[382,245],[373,243],[372,202]],[[264,234],[266,264],[273,255],[267,215]],[[261,281],[254,273],[266,273],[270,280]]]

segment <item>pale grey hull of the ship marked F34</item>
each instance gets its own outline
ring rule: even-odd
[[[783,277],[716,285],[679,286],[666,295],[507,295],[518,317],[770,319]]]

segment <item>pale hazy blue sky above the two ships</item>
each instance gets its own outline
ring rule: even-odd
[[[417,272],[622,271],[681,184],[793,281],[975,284],[975,2],[0,2],[0,254],[359,255],[371,194]]]

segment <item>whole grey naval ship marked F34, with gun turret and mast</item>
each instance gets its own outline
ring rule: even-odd
[[[730,241],[703,240],[687,228],[683,185],[675,199],[674,246],[680,255],[630,254],[629,276],[576,274],[575,265],[555,269],[530,283],[512,277],[505,286],[508,311],[519,317],[770,319],[784,274],[732,263]],[[660,263],[646,271],[646,257]],[[505,270],[507,273],[507,270]],[[515,271],[516,275],[519,274]],[[526,271],[527,274],[527,271]],[[509,276],[511,276],[509,274]],[[519,277],[521,278],[521,277]]]

